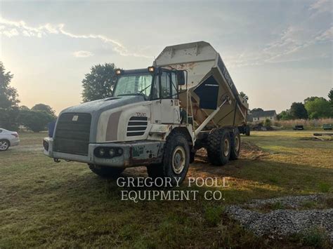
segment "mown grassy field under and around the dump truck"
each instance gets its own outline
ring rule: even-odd
[[[223,213],[223,206],[253,198],[333,192],[333,141],[310,131],[253,132],[244,152],[227,166],[203,154],[188,176],[230,177],[230,187],[197,189],[197,201],[121,201],[115,180],[83,163],[53,163],[42,154],[45,134],[22,133],[21,144],[0,153],[0,248],[22,247],[246,247],[308,246],[301,236],[257,238]],[[124,176],[146,176],[131,168]],[[206,190],[223,200],[206,201]]]

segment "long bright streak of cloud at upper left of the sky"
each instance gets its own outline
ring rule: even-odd
[[[65,25],[63,23],[57,25],[46,23],[39,26],[30,26],[22,20],[7,20],[0,16],[0,25],[0,34],[8,37],[18,36],[19,34],[22,34],[23,36],[42,38],[43,36],[54,34],[67,36],[73,39],[96,39],[103,43],[110,43],[112,45],[112,49],[115,52],[119,53],[119,55],[134,56],[140,58],[152,58],[152,56],[149,55],[131,52],[119,41],[111,39],[110,37],[107,37],[103,34],[75,34],[74,32],[69,32],[65,29]]]

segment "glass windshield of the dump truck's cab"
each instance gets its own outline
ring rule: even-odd
[[[125,74],[119,76],[113,95],[145,95],[148,98],[151,86],[152,74]]]

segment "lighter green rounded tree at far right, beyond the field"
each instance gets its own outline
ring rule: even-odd
[[[310,119],[322,119],[332,116],[331,105],[329,101],[323,97],[315,97],[305,103]]]

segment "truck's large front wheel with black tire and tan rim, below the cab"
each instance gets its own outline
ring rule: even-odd
[[[190,147],[183,133],[173,132],[166,138],[162,163],[147,167],[149,177],[171,178],[172,186],[181,184],[190,165]]]

